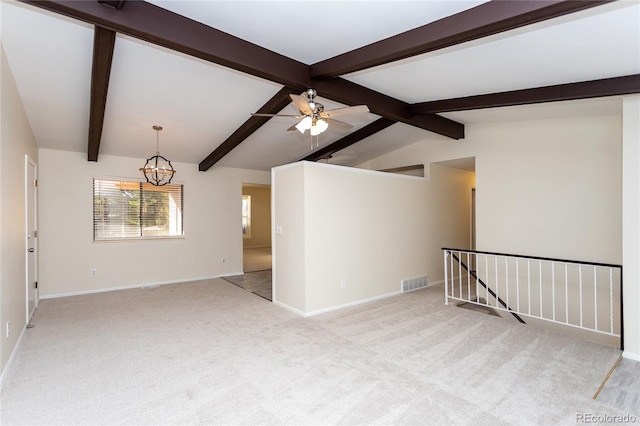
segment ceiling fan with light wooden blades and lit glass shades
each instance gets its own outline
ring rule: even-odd
[[[329,125],[339,127],[342,129],[350,129],[353,126],[343,121],[334,120],[333,117],[338,117],[346,114],[358,114],[363,112],[369,112],[369,108],[366,105],[356,105],[345,108],[337,108],[329,111],[324,110],[324,106],[321,103],[315,101],[317,92],[315,89],[307,89],[302,95],[291,94],[289,97],[291,101],[300,111],[298,115],[288,114],[261,114],[255,113],[251,115],[259,117],[294,117],[300,120],[298,124],[289,127],[287,130],[298,130],[300,133],[304,133],[309,130],[311,136],[317,136],[329,128]]]

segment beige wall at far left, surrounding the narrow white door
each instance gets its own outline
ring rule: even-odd
[[[0,371],[4,377],[26,326],[25,155],[37,162],[38,151],[4,49],[0,60]]]

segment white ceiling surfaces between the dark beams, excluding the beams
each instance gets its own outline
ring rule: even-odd
[[[155,5],[311,64],[474,7],[479,1],[152,1]],[[1,41],[39,146],[86,152],[93,27],[39,8],[2,1]],[[126,8],[126,5],[125,5]],[[343,76],[415,103],[640,73],[640,1],[617,1]],[[100,154],[161,153],[197,164],[282,86],[118,35]],[[322,98],[325,109],[345,105]],[[601,98],[442,114],[463,124],[616,114]],[[293,106],[283,110],[296,114]],[[363,127],[374,114],[345,116]],[[310,153],[307,135],[274,118],[217,165],[269,170]],[[329,129],[320,146],[348,132]],[[355,165],[436,137],[396,123],[340,151]],[[440,137],[440,136],[438,136]],[[314,146],[315,146],[314,140]]]

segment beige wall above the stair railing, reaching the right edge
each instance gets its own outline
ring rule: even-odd
[[[624,235],[625,353],[640,358],[640,273],[633,266],[640,258],[637,103],[637,97],[627,101],[624,121],[593,116],[468,125],[464,140],[431,137],[362,167],[475,157],[478,250],[621,264]]]

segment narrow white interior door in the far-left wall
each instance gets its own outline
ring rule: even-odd
[[[38,171],[36,163],[25,157],[25,233],[26,233],[26,287],[27,323],[38,307]]]

